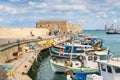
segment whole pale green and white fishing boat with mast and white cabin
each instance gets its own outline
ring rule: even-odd
[[[52,57],[50,64],[54,72],[64,72],[66,69],[73,71],[73,73],[96,73],[98,72],[98,65],[96,60],[106,59],[106,52],[87,52],[77,55],[73,58],[72,53],[74,46],[69,53],[69,58]]]

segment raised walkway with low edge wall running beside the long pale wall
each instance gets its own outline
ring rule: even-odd
[[[38,42],[42,40],[54,39],[59,37],[70,37],[70,35],[58,35],[58,36],[45,36],[41,38],[38,37],[27,37],[27,38],[13,38],[13,39],[2,39],[0,40],[0,53],[6,49],[9,49],[14,46],[19,46],[20,44]]]

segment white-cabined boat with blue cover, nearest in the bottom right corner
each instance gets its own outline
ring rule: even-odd
[[[98,60],[99,74],[75,74],[74,78],[82,80],[120,80],[120,58],[108,55],[106,60]]]

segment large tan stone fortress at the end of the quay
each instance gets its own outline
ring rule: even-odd
[[[79,24],[70,24],[66,20],[41,20],[36,23],[36,28],[47,28],[50,32],[82,32],[82,27]]]

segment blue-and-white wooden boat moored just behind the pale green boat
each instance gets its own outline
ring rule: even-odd
[[[73,52],[71,53],[71,49],[73,47]],[[76,58],[78,55],[85,53],[85,50],[93,50],[90,45],[66,45],[66,46],[53,46],[50,49],[51,56],[70,58],[72,55],[73,58]]]

